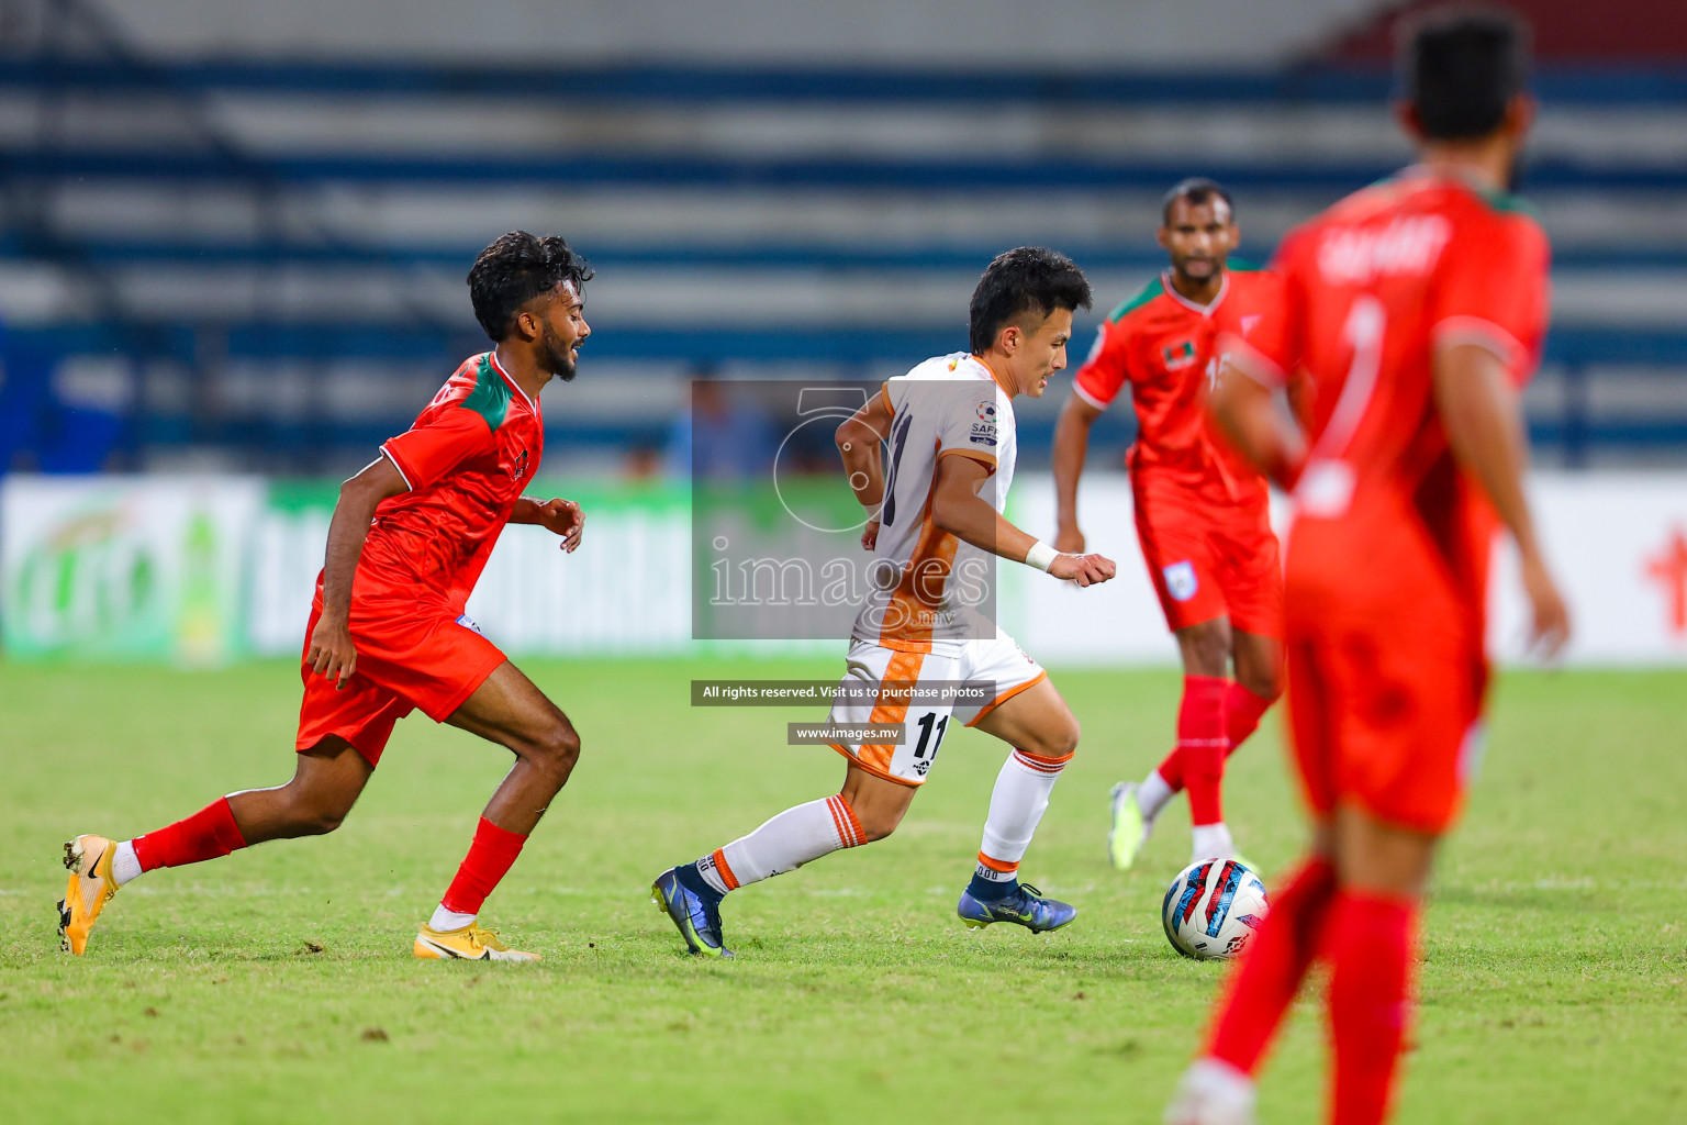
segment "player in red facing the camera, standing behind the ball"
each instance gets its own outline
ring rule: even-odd
[[[1113,786],[1108,857],[1120,869],[1183,788],[1193,859],[1233,855],[1220,798],[1225,757],[1282,692],[1282,567],[1265,479],[1206,418],[1218,334],[1247,336],[1279,293],[1274,275],[1230,266],[1240,234],[1230,194],[1213,180],[1166,194],[1159,243],[1171,268],[1102,324],[1054,428],[1054,546],[1081,552],[1078,477],[1090,425],[1130,385],[1137,442],[1125,464],[1137,540],[1183,656],[1178,744],[1140,784]]]

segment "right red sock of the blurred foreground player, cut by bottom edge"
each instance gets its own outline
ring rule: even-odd
[[[1388,1117],[1410,1015],[1412,899],[1343,891],[1329,916],[1329,1031],[1336,1044],[1333,1125]]]

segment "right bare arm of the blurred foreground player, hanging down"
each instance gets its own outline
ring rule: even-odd
[[[1571,636],[1571,616],[1547,570],[1535,521],[1523,494],[1528,444],[1523,412],[1505,364],[1478,344],[1436,349],[1436,410],[1458,462],[1476,477],[1500,521],[1517,540],[1523,592],[1533,611],[1530,644],[1555,656]]]

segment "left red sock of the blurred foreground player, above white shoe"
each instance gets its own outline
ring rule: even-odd
[[[1282,891],[1270,896],[1265,924],[1253,934],[1225,985],[1203,1054],[1247,1074],[1259,1069],[1306,970],[1318,956],[1334,897],[1336,869],[1319,857],[1309,859]]]

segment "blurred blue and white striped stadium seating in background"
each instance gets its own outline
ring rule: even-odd
[[[1557,292],[1530,393],[1542,459],[1679,464],[1687,78],[1539,88],[1525,192]],[[692,371],[882,378],[962,347],[972,280],[1009,245],[1085,265],[1086,342],[1159,268],[1156,201],[1186,174],[1232,186],[1245,255],[1269,256],[1402,162],[1387,93],[1339,69],[25,59],[0,67],[0,401],[116,418],[105,464],[346,467],[482,346],[462,275],[523,226],[565,233],[599,270],[585,376],[547,454],[604,469],[666,440]],[[1032,454],[1054,405],[1024,412]],[[52,467],[7,432],[0,469]],[[1129,432],[1112,412],[1098,442]]]

